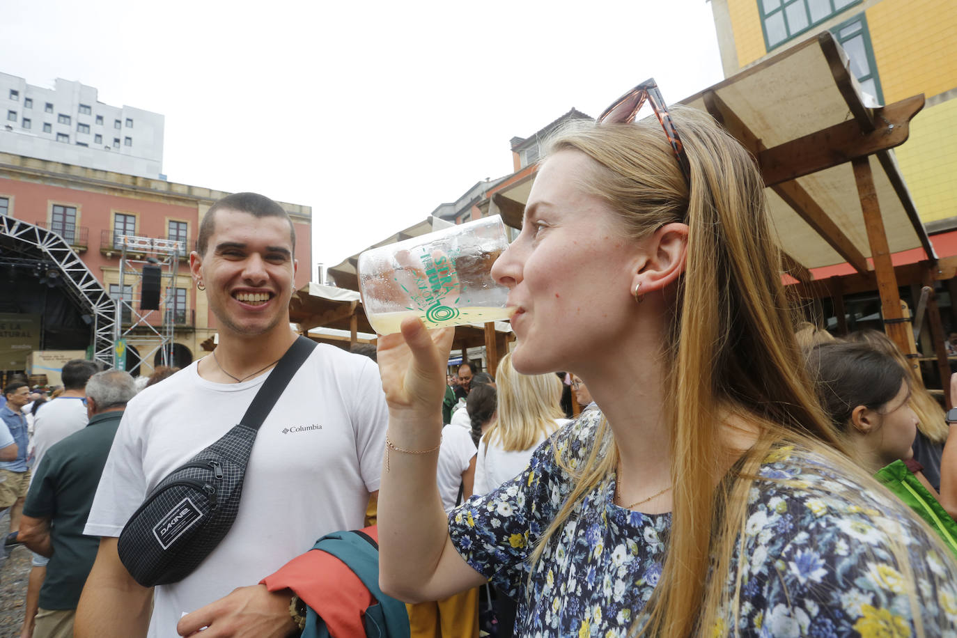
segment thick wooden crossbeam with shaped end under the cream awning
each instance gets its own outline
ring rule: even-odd
[[[900,146],[910,135],[911,119],[922,108],[924,94],[877,109],[880,126],[870,133],[861,129],[859,121],[848,120],[763,150],[758,154],[761,176],[773,186]]]

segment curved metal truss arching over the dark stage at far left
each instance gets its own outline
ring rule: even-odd
[[[4,251],[24,257],[53,262],[64,277],[64,290],[83,309],[93,325],[93,358],[113,365],[113,339],[117,327],[117,307],[100,280],[74,253],[70,245],[54,231],[48,231],[9,215],[0,215],[0,234],[11,237]]]

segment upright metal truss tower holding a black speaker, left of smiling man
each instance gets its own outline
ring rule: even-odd
[[[136,346],[140,361],[150,361],[157,352],[163,365],[172,360],[173,326],[176,323],[176,275],[179,270],[180,255],[186,254],[186,244],[174,239],[153,239],[137,235],[116,235],[114,247],[120,254],[120,294],[116,298],[117,316],[124,318],[128,312],[129,326],[123,330],[117,322],[114,328],[115,341],[125,340],[127,345]],[[134,307],[133,291],[140,291],[142,298],[143,267],[154,264],[161,269],[160,310],[138,311]],[[141,303],[142,306],[142,303]],[[162,321],[157,327],[151,321],[154,312],[162,312]],[[126,323],[123,320],[123,323]],[[139,328],[139,330],[137,330]]]

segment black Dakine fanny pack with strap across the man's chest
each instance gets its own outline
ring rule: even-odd
[[[259,426],[315,347],[315,341],[297,339],[239,425],[169,473],[129,518],[118,550],[137,583],[151,587],[183,580],[226,537],[239,512]]]

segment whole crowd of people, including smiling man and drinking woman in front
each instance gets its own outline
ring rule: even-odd
[[[646,100],[657,118],[634,121]],[[406,603],[400,634],[952,632],[953,427],[873,336],[799,344],[764,192],[739,143],[651,83],[559,130],[492,271],[517,308],[497,368],[450,374],[453,329],[417,319],[368,356],[311,350],[257,430],[229,533],[147,586],[121,558],[127,520],[233,431],[297,341],[288,215],[223,198],[189,258],[211,356],[139,392],[86,370],[37,412],[32,484],[29,388],[5,388],[0,506],[11,542],[50,558],[33,635],[318,636],[320,618],[365,635],[328,610],[346,583],[309,551],[360,528]],[[161,542],[202,511],[170,513]]]

